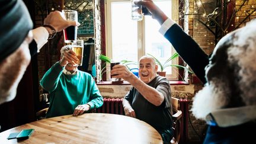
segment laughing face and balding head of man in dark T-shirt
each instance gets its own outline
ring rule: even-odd
[[[139,60],[139,76],[140,80],[148,84],[156,77],[158,66],[155,60],[150,56],[143,56]]]

